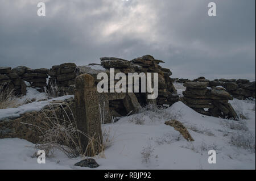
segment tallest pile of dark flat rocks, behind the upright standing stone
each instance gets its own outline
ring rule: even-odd
[[[159,94],[156,100],[147,99],[146,93],[135,93],[139,103],[144,106],[148,103],[153,104],[174,104],[179,99],[176,94],[174,85],[174,79],[170,78],[172,72],[170,69],[162,68],[160,63],[164,63],[162,60],[155,60],[154,57],[150,55],[145,55],[142,57],[135,58],[131,61],[123,60],[121,58],[115,57],[103,57],[101,59],[101,65],[105,69],[114,68],[115,73],[158,73],[158,86]],[[139,84],[141,86],[141,82]]]

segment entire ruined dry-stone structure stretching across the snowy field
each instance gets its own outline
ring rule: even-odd
[[[147,104],[172,105],[181,100],[193,110],[204,115],[236,119],[238,115],[228,103],[228,100],[232,100],[232,96],[239,99],[255,98],[255,82],[249,82],[246,79],[215,79],[209,81],[204,77],[199,77],[193,81],[170,78],[171,70],[162,68],[159,64],[164,62],[156,60],[150,55],[138,57],[131,61],[114,57],[103,57],[100,60],[101,64],[76,66],[73,63],[65,63],[54,65],[50,70],[30,69],[26,66],[18,66],[14,69],[1,67],[0,84],[7,83],[10,89],[15,89],[16,94],[25,95],[26,82],[28,82],[39,91],[44,91],[45,87],[49,90],[51,86],[57,86],[59,96],[75,95],[75,99],[65,102],[71,108],[71,110],[67,109],[65,112],[68,114],[73,112],[78,129],[90,137],[96,138],[99,143],[102,141],[102,123],[111,123],[113,117],[137,113],[142,106]],[[103,68],[98,70],[93,69],[92,66]],[[101,81],[97,80],[97,74],[105,72],[109,75],[110,68],[114,68],[115,73],[122,72],[126,75],[128,73],[158,73],[158,98],[147,99],[147,92],[97,92],[97,83]],[[184,97],[179,98],[176,95],[174,81],[184,83],[186,87],[183,92]],[[139,83],[139,87],[141,87],[141,82]],[[55,105],[54,110],[59,118],[65,115],[61,106]],[[28,124],[41,127],[42,119],[46,119],[46,116],[51,115],[51,113],[51,109],[44,108],[44,113],[30,112],[24,113],[18,118],[1,120],[0,138],[19,137],[36,143],[40,141],[42,132]],[[187,131],[178,121],[168,121],[166,124],[177,127],[178,131],[184,131],[183,136],[187,140],[193,141],[193,138],[189,136],[189,133],[187,134]],[[85,149],[88,138],[83,137],[82,143]]]

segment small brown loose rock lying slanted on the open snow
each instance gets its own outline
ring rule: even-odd
[[[194,141],[192,136],[189,134],[187,128],[184,127],[184,125],[182,123],[180,123],[180,121],[177,120],[170,120],[170,121],[166,121],[164,124],[166,125],[170,125],[171,127],[174,127],[174,129],[178,132],[180,132],[180,134],[187,140],[187,141]]]

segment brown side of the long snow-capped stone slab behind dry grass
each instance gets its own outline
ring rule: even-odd
[[[21,115],[20,117],[10,117],[0,121],[0,138],[21,138],[28,140],[34,144],[42,141],[43,133],[38,128],[46,128],[46,123],[48,123],[47,117],[56,116],[60,120],[63,119],[65,115],[64,110],[70,114],[72,110],[75,110],[72,106],[72,100],[67,100],[67,102],[62,102],[67,104],[68,107],[61,108],[59,104],[52,104],[54,109],[54,115],[52,110],[46,106],[42,111],[32,111]],[[43,121],[42,121],[43,120]],[[49,123],[48,123],[49,124]]]

